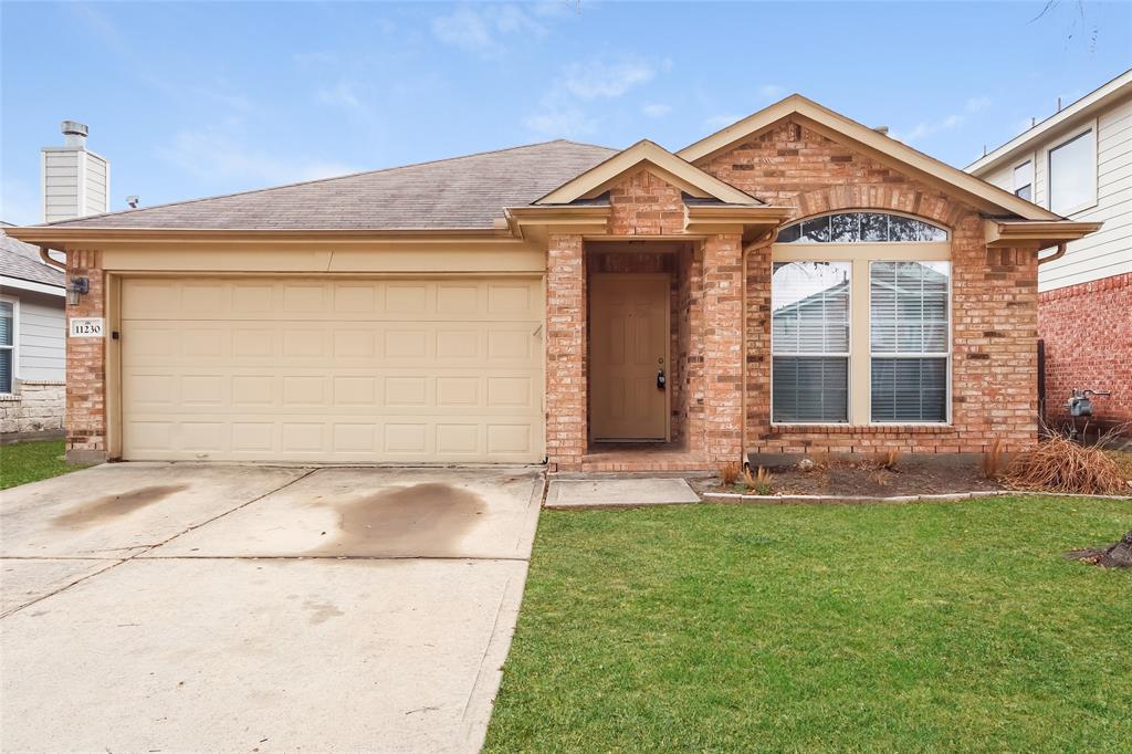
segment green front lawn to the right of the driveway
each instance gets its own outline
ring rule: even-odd
[[[1127,751],[1132,500],[542,513],[490,752]]]

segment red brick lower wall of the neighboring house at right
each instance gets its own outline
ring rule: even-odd
[[[1094,420],[1106,427],[1132,422],[1132,273],[1039,294],[1038,334],[1046,350],[1048,423],[1066,421],[1070,392],[1086,387],[1113,392],[1094,397]]]

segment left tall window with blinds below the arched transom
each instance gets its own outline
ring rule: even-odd
[[[775,422],[849,421],[848,262],[786,262],[771,275]]]

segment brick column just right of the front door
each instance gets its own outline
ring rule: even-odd
[[[709,235],[703,256],[704,457],[743,454],[743,237]]]

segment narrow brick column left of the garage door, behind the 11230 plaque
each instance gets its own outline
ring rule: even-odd
[[[67,307],[67,317],[105,317],[105,275],[98,251],[69,251],[67,282],[91,281],[91,292]],[[67,337],[67,461],[106,459],[106,351],[102,337]]]

